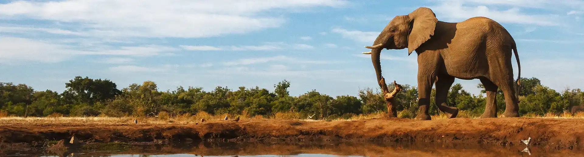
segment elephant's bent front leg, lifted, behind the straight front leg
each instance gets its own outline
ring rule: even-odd
[[[438,75],[436,81],[436,106],[440,111],[450,114],[450,118],[456,118],[458,115],[458,109],[456,107],[450,107],[446,104],[448,91],[453,83],[454,77],[449,75]]]

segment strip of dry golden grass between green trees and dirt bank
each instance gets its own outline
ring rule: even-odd
[[[381,118],[385,117],[386,113],[371,113],[371,114],[359,114],[348,119],[338,118],[335,120],[315,120],[314,117],[312,119],[308,118],[310,115],[304,115],[303,113],[294,113],[294,112],[287,112],[287,113],[276,113],[270,117],[263,117],[263,116],[244,116],[244,115],[231,115],[228,114],[229,119],[233,119],[237,116],[240,116],[242,120],[260,120],[266,118],[272,119],[279,119],[279,120],[300,120],[300,121],[354,121],[354,120],[367,120],[371,118]],[[406,113],[404,113],[406,114]],[[407,113],[409,114],[409,113]],[[205,118],[205,121],[221,121],[225,117],[225,114],[221,115],[211,115],[204,111],[200,111],[194,115],[189,113],[182,114],[179,116],[168,116],[168,114],[158,114],[158,117],[107,117],[104,115],[100,115],[97,117],[62,117],[61,114],[51,114],[47,117],[9,117],[5,116],[4,113],[0,112],[0,124],[39,124],[39,123],[69,123],[69,124],[123,124],[123,123],[134,123],[134,118],[138,120],[138,123],[146,123],[146,124],[194,124],[200,123],[201,118]],[[460,111],[457,117],[464,117],[464,118],[478,118],[475,116],[471,116],[470,113],[466,111]],[[584,118],[584,111],[572,114],[569,112],[565,112],[562,114],[546,114],[545,116],[536,116],[534,114],[527,114],[522,117],[529,117],[529,118]],[[404,117],[408,118],[408,117]],[[442,120],[446,119],[446,114],[440,113],[437,115],[432,116],[432,120]]]

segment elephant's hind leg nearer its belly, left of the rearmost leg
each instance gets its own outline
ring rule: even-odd
[[[486,78],[481,78],[481,83],[483,86],[485,86],[486,90],[485,112],[482,113],[481,118],[496,118],[498,86]]]

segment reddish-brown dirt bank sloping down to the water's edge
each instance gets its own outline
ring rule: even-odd
[[[410,120],[374,118],[359,121],[245,120],[199,124],[2,124],[0,143],[42,145],[45,141],[126,142],[443,142],[531,145],[541,149],[582,149],[584,119],[453,118]]]

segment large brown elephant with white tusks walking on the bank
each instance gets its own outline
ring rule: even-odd
[[[436,19],[429,8],[418,8],[408,15],[395,16],[373,42],[366,46],[371,62],[381,79],[380,53],[383,48],[408,48],[408,55],[418,54],[418,120],[430,120],[430,92],[436,83],[436,105],[455,118],[456,107],[446,105],[447,93],[458,79],[480,79],[486,90],[486,106],[481,118],[497,117],[496,92],[503,90],[505,112],[501,117],[519,117],[517,91],[521,67],[515,40],[499,23],[485,17],[474,17],[450,23]],[[513,89],[512,53],[519,68],[517,86]],[[381,83],[380,83],[381,86]]]

